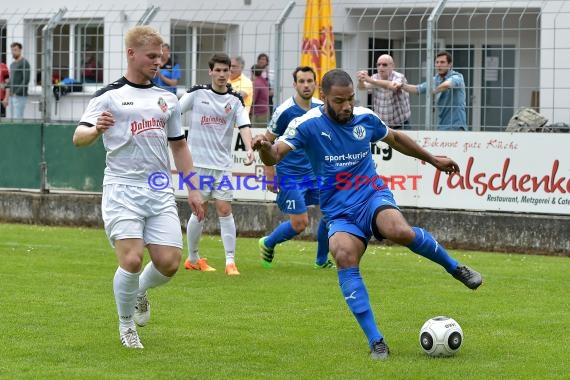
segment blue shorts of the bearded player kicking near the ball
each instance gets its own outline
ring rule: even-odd
[[[368,243],[372,235],[378,240],[384,239],[376,226],[373,226],[373,223],[378,212],[385,208],[399,210],[390,190],[377,191],[363,205],[359,205],[358,208],[349,208],[346,213],[331,220],[328,223],[329,239],[336,232],[348,232],[361,238],[365,244]]]

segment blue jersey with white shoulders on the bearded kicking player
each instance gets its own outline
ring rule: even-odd
[[[353,113],[350,122],[339,124],[323,107],[313,108],[295,119],[280,139],[305,150],[320,183],[321,210],[329,220],[357,215],[378,190],[389,191],[370,151],[370,143],[384,139],[388,127],[368,108],[354,107]]]

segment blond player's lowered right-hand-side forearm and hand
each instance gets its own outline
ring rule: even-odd
[[[172,150],[172,158],[174,158],[174,165],[179,173],[182,173],[184,178],[191,176],[194,171],[194,162],[192,161],[192,155],[190,154],[190,149],[188,149],[188,144],[183,138],[178,140],[170,140],[170,149]],[[190,182],[193,187],[188,186],[188,204],[192,209],[192,212],[196,214],[198,220],[204,219],[204,206],[202,196],[198,191],[198,183],[196,179],[191,176]]]

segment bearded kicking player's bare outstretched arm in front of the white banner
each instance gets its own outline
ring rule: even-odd
[[[459,165],[451,158],[436,157],[419,146],[411,137],[401,131],[388,129],[388,134],[383,140],[386,144],[400,153],[429,162],[437,169],[446,173],[459,173]],[[261,156],[261,153],[260,153]]]

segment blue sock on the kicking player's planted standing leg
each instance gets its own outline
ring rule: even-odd
[[[378,330],[378,326],[376,326],[374,314],[370,307],[368,291],[366,291],[364,281],[360,277],[360,270],[358,267],[353,267],[339,269],[337,273],[338,283],[344,300],[358,321],[360,328],[364,331],[366,338],[368,338],[368,345],[372,347],[372,343],[383,339],[383,336],[380,330]]]

